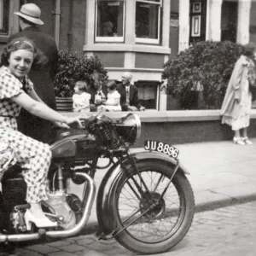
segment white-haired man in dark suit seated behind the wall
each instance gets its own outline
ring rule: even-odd
[[[117,86],[122,111],[143,111],[145,108],[138,99],[137,87],[131,84],[131,79],[132,74],[125,72],[122,75],[122,83]]]

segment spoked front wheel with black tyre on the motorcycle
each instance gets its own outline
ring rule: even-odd
[[[137,170],[147,184],[150,195],[153,196],[154,200],[159,199],[161,191],[163,191],[166,183],[172,177],[173,169],[170,169],[170,165],[166,166],[165,163],[160,161],[143,161],[137,164]],[[137,174],[133,171],[129,173],[138,182]],[[159,184],[157,183],[158,180],[160,180]],[[148,206],[152,206],[152,202],[148,203],[143,197],[137,198],[127,181],[132,186],[131,176],[127,177],[124,174],[114,184],[115,193],[110,203],[110,212],[113,212],[113,218],[117,218],[117,225],[113,226],[113,230],[116,229],[115,234],[125,226],[125,218],[125,224],[128,224],[129,221],[131,223],[131,220],[135,221],[136,218],[141,216],[142,212],[147,211]],[[148,181],[150,182],[148,183]],[[141,182],[138,183],[141,185]],[[155,189],[156,185],[157,189]],[[140,196],[134,183],[132,188]],[[170,194],[170,191],[172,194]],[[132,195],[134,195],[135,199],[131,198]],[[136,211],[139,212],[131,217],[132,212]],[[150,254],[166,252],[176,246],[187,234],[194,218],[194,212],[195,199],[193,191],[189,180],[179,170],[172,178],[172,183],[166,190],[164,200],[160,201],[160,206],[154,207],[144,217],[138,218],[134,224],[131,224],[126,230],[121,231],[115,236],[115,239],[122,246],[135,253]],[[127,217],[131,218],[127,220]],[[172,222],[175,219],[176,221]],[[146,231],[144,236],[143,229]],[[160,232],[158,233],[158,231]],[[159,237],[158,234],[162,237]]]

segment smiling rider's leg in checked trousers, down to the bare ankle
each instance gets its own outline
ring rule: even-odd
[[[41,201],[46,201],[46,179],[49,170],[51,151],[49,145],[26,137],[20,131],[6,129],[1,134],[9,141],[15,158],[20,164],[26,182],[26,201],[31,204],[31,212],[38,218],[46,218]]]

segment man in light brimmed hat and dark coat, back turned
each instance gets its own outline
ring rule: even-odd
[[[29,73],[29,78],[34,84],[34,89],[40,99],[49,106],[56,108],[55,92],[53,79],[57,72],[58,65],[58,49],[55,44],[55,39],[41,32],[38,26],[44,25],[40,20],[41,10],[34,3],[26,3],[21,6],[19,12],[15,12],[19,16],[21,32],[12,35],[9,42],[14,38],[26,37],[34,41],[38,49],[48,58],[48,63],[40,69],[32,68]],[[22,121],[21,121],[22,120]],[[52,123],[47,120],[39,119],[26,112],[24,109],[20,112],[18,122],[19,130],[43,143],[55,137],[55,132],[52,130]]]

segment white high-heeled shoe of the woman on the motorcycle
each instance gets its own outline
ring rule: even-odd
[[[58,226],[57,222],[52,222],[47,217],[36,218],[29,210],[26,210],[24,218],[26,223],[26,230],[31,230],[32,223],[34,223],[38,228],[55,228]]]

